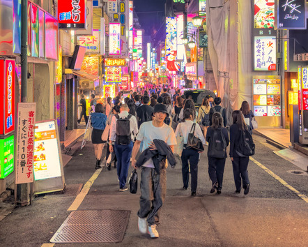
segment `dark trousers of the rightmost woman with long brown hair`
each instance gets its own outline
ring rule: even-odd
[[[249,157],[233,157],[232,166],[236,190],[240,190],[241,185],[242,188],[246,188],[247,184],[250,184],[247,171],[248,163]]]

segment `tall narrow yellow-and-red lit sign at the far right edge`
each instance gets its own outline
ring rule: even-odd
[[[300,143],[308,144],[308,67],[298,67]]]

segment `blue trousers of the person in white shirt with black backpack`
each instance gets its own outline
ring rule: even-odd
[[[120,181],[120,188],[124,188],[126,179],[128,178],[128,167],[130,167],[130,156],[132,156],[132,142],[127,145],[114,144],[116,152],[116,158],[118,160],[118,166],[116,171],[118,174],[118,180]]]

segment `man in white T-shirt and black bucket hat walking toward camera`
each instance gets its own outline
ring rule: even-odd
[[[169,117],[167,107],[157,104],[153,110],[153,121],[142,123],[139,133],[132,149],[132,167],[137,169],[136,156],[143,142],[142,151],[150,148],[155,150],[153,140],[163,140],[173,151],[176,145],[176,135],[174,130],[164,123],[164,119]],[[141,167],[140,183],[140,209],[138,211],[138,227],[141,233],[148,232],[151,238],[159,237],[156,226],[159,223],[159,213],[167,193],[166,167],[167,160],[160,163],[160,174],[155,171],[154,163],[150,158]],[[151,203],[152,202],[152,203]],[[147,225],[148,223],[148,225]]]

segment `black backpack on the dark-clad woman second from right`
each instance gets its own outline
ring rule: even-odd
[[[213,129],[208,147],[208,157],[226,158],[226,139],[222,133],[222,128]]]

